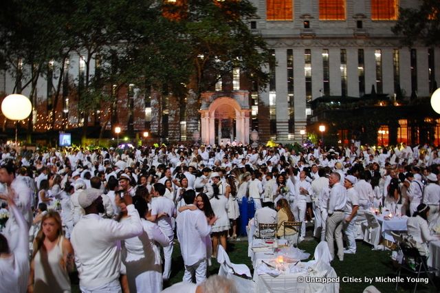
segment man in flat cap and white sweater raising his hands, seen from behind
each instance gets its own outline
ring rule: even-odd
[[[129,219],[118,223],[99,216],[104,212],[99,193],[78,195],[86,215],[74,227],[71,242],[81,292],[121,292],[119,241],[140,236],[143,231],[131,195],[125,193],[124,201]]]

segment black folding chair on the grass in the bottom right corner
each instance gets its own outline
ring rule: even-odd
[[[417,248],[408,246],[408,243],[405,241],[400,241],[399,246],[404,254],[404,261],[397,270],[399,274],[397,274],[396,290],[399,285],[399,277],[402,269],[411,274],[417,274],[417,278],[419,278],[420,274],[427,274],[429,281],[435,286],[430,274],[437,272],[437,269],[428,266],[426,257],[421,256]],[[418,282],[415,282],[414,292],[417,290],[417,283]]]

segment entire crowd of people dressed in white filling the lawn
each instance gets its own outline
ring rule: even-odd
[[[414,216],[408,233],[420,243],[440,232],[440,158],[427,144],[6,147],[0,164],[0,198],[10,213],[0,234],[0,292],[70,292],[75,267],[82,292],[160,292],[175,238],[184,283],[166,292],[195,292],[191,283],[206,280],[217,246],[227,250],[237,221],[248,223],[239,213],[243,197],[255,205],[255,235],[260,223],[276,223],[277,237],[303,241],[311,223],[332,257],[336,241],[340,261],[356,252],[363,210]],[[302,226],[283,229],[285,221]]]

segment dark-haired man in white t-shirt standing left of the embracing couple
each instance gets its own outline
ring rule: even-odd
[[[170,245],[164,247],[164,273],[162,277],[164,280],[170,279],[171,273],[171,254],[173,254],[173,217],[176,217],[176,208],[174,202],[166,197],[166,188],[162,183],[153,185],[151,193],[153,199],[151,200],[151,215],[147,217],[148,221],[157,221],[157,225],[162,229],[164,235],[170,239]]]

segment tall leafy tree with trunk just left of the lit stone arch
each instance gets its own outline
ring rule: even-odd
[[[269,74],[263,65],[274,63],[261,36],[250,32],[247,21],[256,18],[256,8],[248,0],[188,0],[187,9],[176,23],[183,33],[181,43],[190,46],[187,56],[193,69],[186,97],[187,137],[197,130],[201,92],[212,89],[219,76],[241,73],[264,88]]]

